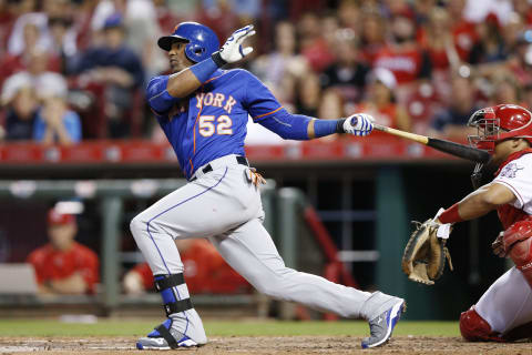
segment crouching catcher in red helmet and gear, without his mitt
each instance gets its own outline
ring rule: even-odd
[[[470,140],[492,153],[495,179],[439,215],[457,223],[495,210],[504,229],[493,252],[515,266],[497,280],[479,302],[460,316],[468,341],[508,342],[532,334],[532,113],[514,104],[477,111],[469,124],[479,129]]]

